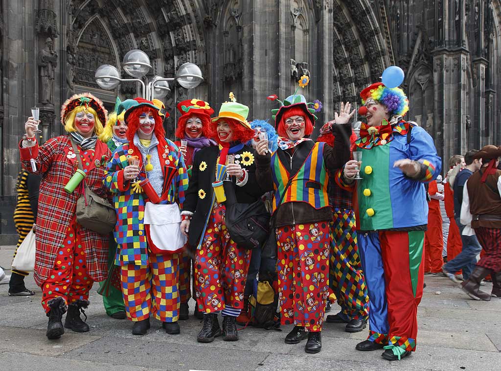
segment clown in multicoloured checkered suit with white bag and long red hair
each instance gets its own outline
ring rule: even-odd
[[[178,205],[184,201],[188,175],[179,148],[165,138],[159,110],[142,98],[121,103],[118,114],[125,111],[128,142],[115,150],[104,177],[117,210],[115,264],[121,267],[134,335],[147,332],[151,315],[163,322],[166,333],[180,332],[178,252],[185,239],[177,234]]]

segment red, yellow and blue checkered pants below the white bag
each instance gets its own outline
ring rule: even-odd
[[[175,322],[179,316],[179,254],[153,254],[148,265],[122,266],[122,293],[127,318],[142,321],[153,315],[162,322]]]

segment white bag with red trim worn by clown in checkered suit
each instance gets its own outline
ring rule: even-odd
[[[177,204],[144,207],[144,229],[150,250],[155,254],[178,253],[186,244],[181,233],[181,213]]]

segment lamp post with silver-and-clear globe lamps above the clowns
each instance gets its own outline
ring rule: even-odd
[[[148,81],[145,76],[152,68],[150,59],[146,53],[139,49],[131,50],[125,54],[122,68],[133,78],[122,79],[116,67],[105,64],[96,70],[96,83],[105,90],[112,90],[122,82],[138,82],[141,84],[142,97],[152,100],[155,97],[163,98],[168,94],[170,91],[169,81],[177,81],[185,89],[196,88],[203,81],[200,68],[189,62],[181,65],[173,78],[155,76],[153,80]]]

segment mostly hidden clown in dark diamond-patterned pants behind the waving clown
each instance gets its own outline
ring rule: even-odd
[[[331,130],[334,124],[334,121],[329,121],[322,126],[317,141],[334,145]],[[352,130],[350,143],[353,145],[356,139]],[[369,297],[358,252],[352,192],[341,189],[334,181],[334,176],[331,177],[328,189],[333,218],[330,224],[331,246],[324,253],[329,256],[329,288],[337,298],[341,310],[337,314],[328,315],[326,322],[345,323],[346,332],[359,332],[367,326]],[[330,307],[329,300],[326,312]]]

